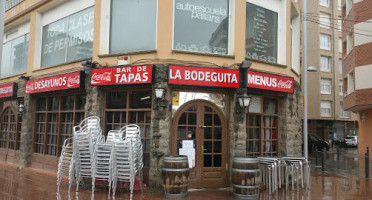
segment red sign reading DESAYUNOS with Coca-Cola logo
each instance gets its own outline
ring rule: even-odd
[[[38,93],[55,90],[80,88],[81,72],[35,79],[26,82],[26,93]]]

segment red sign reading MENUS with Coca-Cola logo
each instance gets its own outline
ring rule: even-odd
[[[264,90],[293,93],[294,79],[262,72],[248,71],[247,86]]]

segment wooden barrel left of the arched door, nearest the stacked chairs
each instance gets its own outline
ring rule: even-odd
[[[165,197],[182,198],[187,195],[189,185],[187,156],[165,156],[161,175]]]

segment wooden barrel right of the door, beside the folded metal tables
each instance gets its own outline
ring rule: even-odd
[[[231,170],[234,195],[242,199],[258,199],[261,176],[258,159],[235,157]]]

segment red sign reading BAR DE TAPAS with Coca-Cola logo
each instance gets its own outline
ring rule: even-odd
[[[92,85],[139,84],[152,82],[152,65],[110,67],[92,70]]]

